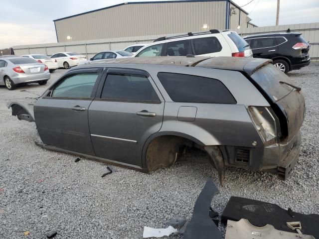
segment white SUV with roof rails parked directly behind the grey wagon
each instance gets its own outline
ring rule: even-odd
[[[160,37],[137,51],[143,56],[235,56],[252,57],[249,44],[235,31],[209,30]]]

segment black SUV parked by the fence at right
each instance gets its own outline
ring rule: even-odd
[[[272,59],[273,64],[287,73],[310,64],[308,42],[301,33],[280,32],[245,36],[255,58]]]

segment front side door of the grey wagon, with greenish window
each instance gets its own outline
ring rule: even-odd
[[[34,105],[36,127],[44,144],[94,155],[88,109],[102,69],[68,72]]]

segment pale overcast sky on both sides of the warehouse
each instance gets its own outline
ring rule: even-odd
[[[56,42],[54,19],[125,1],[145,0],[5,0],[0,4],[0,49]],[[242,6],[250,0],[233,1]],[[275,25],[277,0],[253,0],[243,8],[256,25]],[[310,22],[319,22],[319,0],[280,1],[280,25]]]

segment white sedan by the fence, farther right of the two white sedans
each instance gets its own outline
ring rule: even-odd
[[[69,69],[71,66],[77,66],[83,61],[86,61],[86,57],[76,52],[58,52],[51,56],[58,63],[58,67]]]

